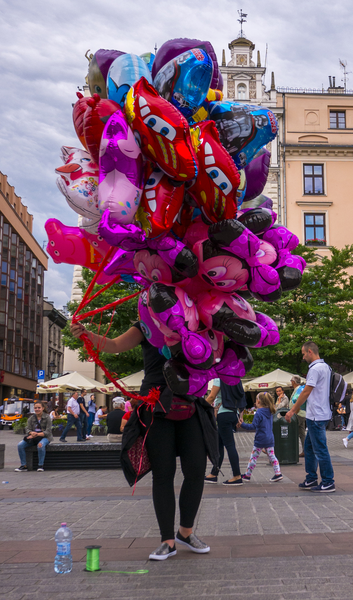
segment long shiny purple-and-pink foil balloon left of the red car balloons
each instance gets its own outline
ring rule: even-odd
[[[143,161],[121,110],[106,122],[99,157],[99,210],[109,209],[112,223],[132,223],[143,188]]]

